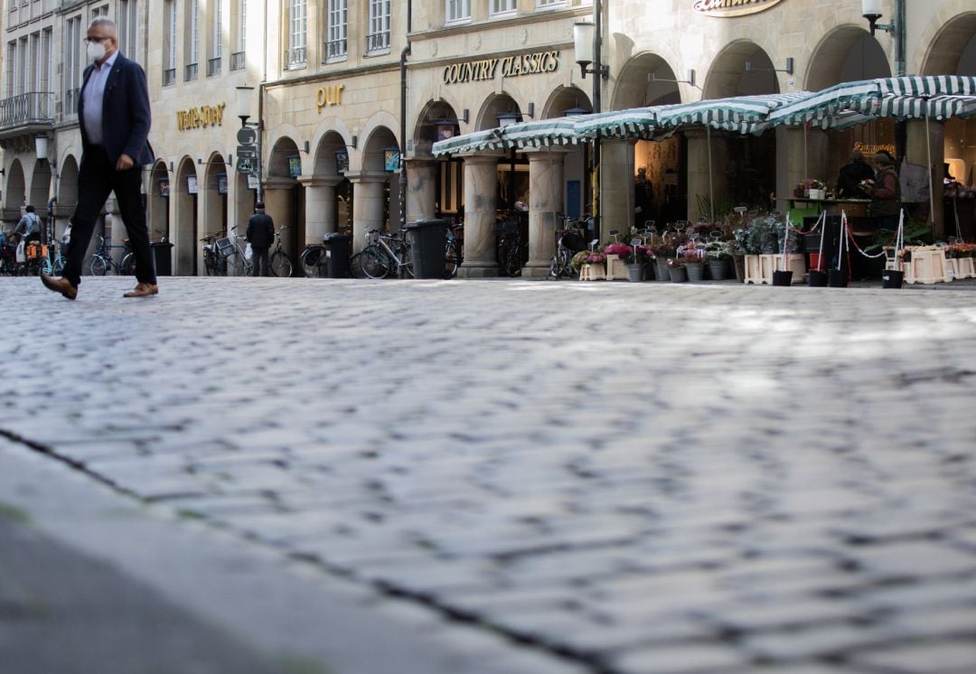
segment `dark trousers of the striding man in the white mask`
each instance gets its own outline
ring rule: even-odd
[[[72,285],[81,283],[85,253],[88,252],[88,244],[95,232],[95,223],[111,192],[115,192],[119,213],[129,234],[132,252],[136,256],[136,280],[140,283],[156,283],[152,249],[149,248],[149,232],[145,227],[145,211],[142,209],[140,196],[141,185],[141,166],[134,166],[128,171],[116,171],[102,146],[85,148],[78,170],[78,204],[71,216],[71,240],[64,259],[63,277]]]

